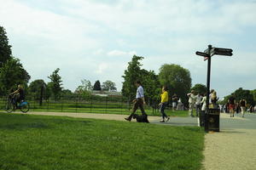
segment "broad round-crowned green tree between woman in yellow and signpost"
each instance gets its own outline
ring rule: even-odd
[[[177,94],[187,104],[187,93],[191,88],[190,72],[180,65],[162,65],[160,67],[159,80],[162,86],[169,89],[169,94]]]

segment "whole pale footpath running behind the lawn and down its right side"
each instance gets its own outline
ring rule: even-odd
[[[125,121],[127,115],[29,112],[32,115],[72,116]],[[222,113],[220,132],[207,133],[203,161],[206,170],[256,170],[256,114],[230,118]],[[150,123],[172,126],[197,126],[197,118],[172,117],[170,122],[160,123],[160,116],[148,116]],[[133,120],[134,121],[134,120]]]

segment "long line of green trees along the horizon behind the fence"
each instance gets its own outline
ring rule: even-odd
[[[180,65],[164,64],[160,66],[159,74],[156,74],[154,71],[143,69],[142,60],[142,56],[134,55],[122,76],[124,81],[122,82],[121,92],[126,98],[135,98],[137,88],[134,82],[136,80],[140,80],[143,83],[145,97],[147,99],[159,99],[162,86],[168,88],[170,98],[172,98],[173,94],[177,94],[185,104],[187,103],[187,94],[190,90],[193,89],[199,94],[207,93],[207,87],[204,84],[195,84],[191,88],[192,79],[188,69]],[[48,83],[44,82],[43,79],[28,83],[31,77],[20,63],[20,59],[12,55],[7,33],[0,26],[0,95],[9,94],[9,91],[16,88],[18,84],[22,84],[26,88],[27,94],[43,93],[45,99],[54,97],[56,100],[65,94],[83,94],[88,96],[93,90],[117,90],[116,84],[110,80],[102,84],[97,80],[92,85],[90,80],[83,79],[81,80],[81,84],[72,92],[69,89],[63,88],[59,71],[60,69],[57,68],[49,75]],[[244,90],[239,88],[232,95],[235,95],[236,99],[247,99],[247,102],[251,105],[254,105],[256,101],[256,89]],[[229,97],[230,95],[226,96],[222,102],[226,102]]]

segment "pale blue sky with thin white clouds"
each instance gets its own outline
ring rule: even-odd
[[[0,0],[0,26],[13,55],[33,80],[60,68],[63,87],[82,79],[116,83],[133,54],[143,69],[189,69],[192,85],[206,84],[207,62],[195,51],[232,48],[212,57],[211,88],[223,98],[256,88],[255,0]]]

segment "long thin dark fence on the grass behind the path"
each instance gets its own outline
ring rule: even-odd
[[[5,110],[6,97],[0,97],[0,110]],[[129,114],[131,113],[131,102],[125,97],[99,97],[73,95],[61,96],[55,100],[52,98],[40,101],[38,95],[27,96],[26,101],[30,104],[30,111],[57,111],[57,112],[84,112],[84,113],[111,113]],[[144,109],[148,115],[158,112],[158,99],[148,99],[148,105]]]

